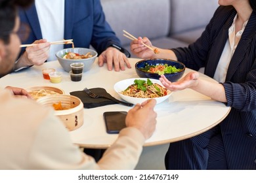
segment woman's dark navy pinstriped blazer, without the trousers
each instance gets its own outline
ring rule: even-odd
[[[178,60],[195,70],[205,67],[205,75],[213,78],[228,40],[228,28],[232,25],[235,15],[236,10],[233,7],[219,7],[202,36],[194,44],[190,44],[188,48],[173,49]],[[232,107],[219,125],[228,169],[256,169],[255,11],[252,12],[232,56],[223,86],[226,105]],[[198,141],[199,138],[196,139]]]

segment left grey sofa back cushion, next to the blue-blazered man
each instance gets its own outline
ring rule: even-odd
[[[106,20],[123,45],[131,42],[123,37],[123,29],[135,37],[150,39],[169,34],[169,0],[101,0],[101,3]]]

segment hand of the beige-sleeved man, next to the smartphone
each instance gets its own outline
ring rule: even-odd
[[[125,124],[127,127],[136,127],[144,135],[145,139],[152,136],[156,129],[156,112],[154,107],[156,105],[155,99],[150,99],[144,103],[137,104],[129,110]]]

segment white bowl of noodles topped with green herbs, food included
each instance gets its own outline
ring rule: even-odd
[[[123,100],[134,105],[152,98],[159,104],[168,99],[172,93],[161,84],[160,80],[152,78],[120,80],[114,85],[114,90]]]

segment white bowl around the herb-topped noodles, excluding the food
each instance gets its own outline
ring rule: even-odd
[[[124,99],[125,101],[129,102],[129,103],[132,103],[134,105],[136,105],[137,103],[142,103],[150,98],[137,98],[137,97],[129,97],[127,95],[123,95],[121,94],[120,92],[125,90],[128,86],[130,86],[131,84],[134,83],[134,80],[147,80],[148,78],[129,78],[129,79],[126,79],[126,80],[120,80],[119,82],[117,82],[115,85],[114,85],[114,90],[118,93],[118,95]],[[156,79],[151,79],[150,80],[153,82],[153,83],[157,83],[161,86],[163,86],[163,84],[161,84],[160,80],[156,80]],[[164,86],[163,86],[164,88]],[[156,99],[156,104],[159,104],[163,101],[165,101],[166,99],[168,99],[170,97],[172,92],[170,92],[169,90],[167,90],[167,95],[163,96],[163,97],[156,97],[154,99]]]

